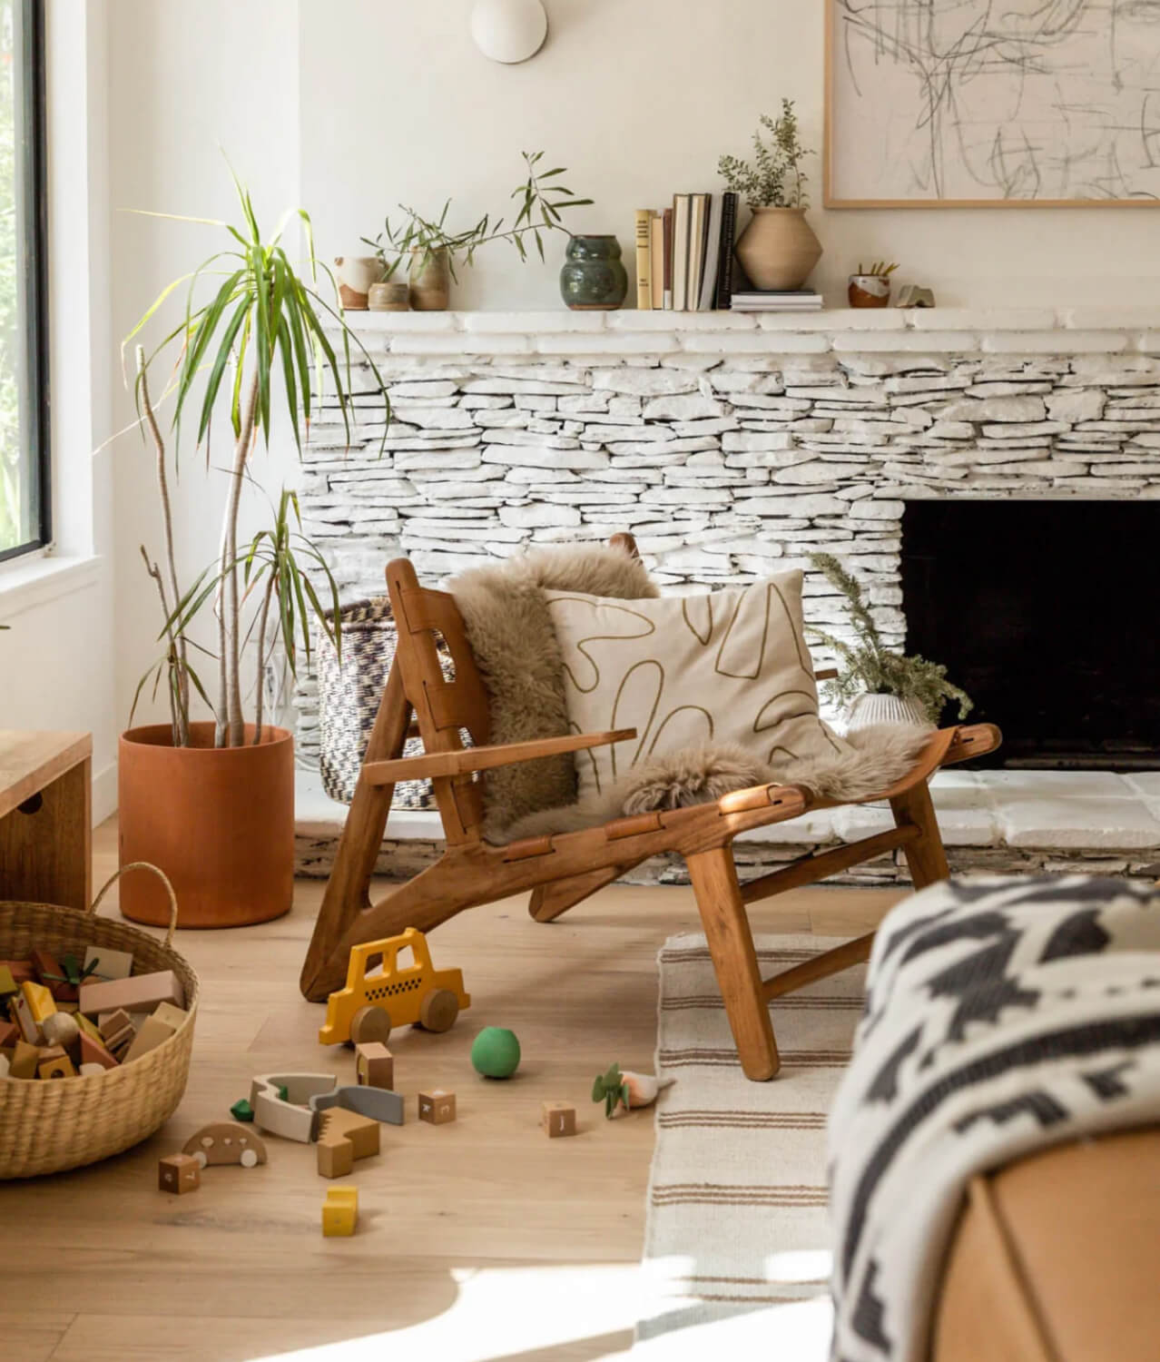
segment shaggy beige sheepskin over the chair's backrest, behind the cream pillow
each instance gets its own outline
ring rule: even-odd
[[[492,704],[492,742],[554,738],[569,731],[564,659],[545,590],[585,591],[622,601],[658,594],[644,565],[622,549],[566,545],[534,549],[452,577],[471,651]],[[569,755],[487,772],[485,825],[497,838],[515,819],[576,799]]]

